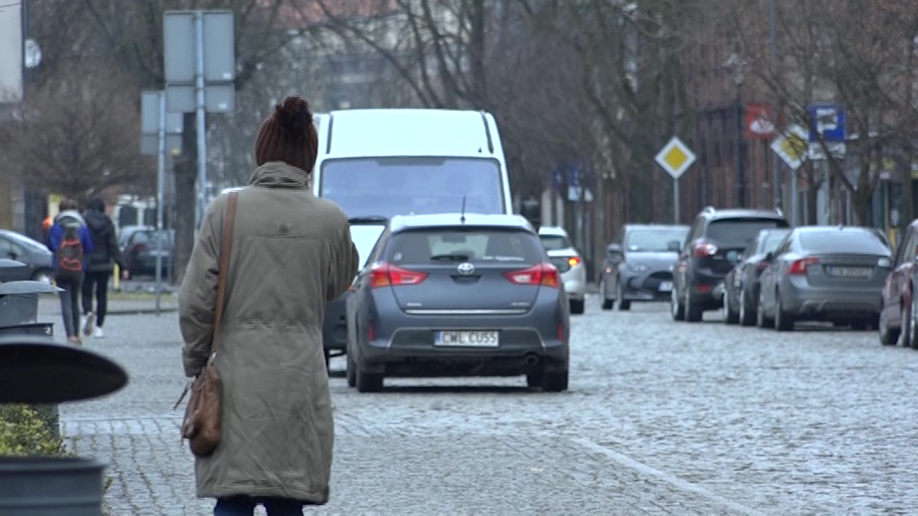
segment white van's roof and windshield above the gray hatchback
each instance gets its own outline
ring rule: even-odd
[[[513,212],[494,117],[448,109],[346,109],[316,114],[316,196],[349,217]]]

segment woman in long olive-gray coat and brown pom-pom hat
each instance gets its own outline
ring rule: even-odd
[[[216,516],[252,515],[256,505],[269,516],[302,514],[329,500],[334,432],[322,320],[325,303],[356,275],[357,252],[341,208],[307,189],[317,147],[307,102],[287,97],[259,130],[250,185],[207,208],[185,272],[185,375],[197,376],[211,346],[218,350],[220,442],[195,459],[197,496],[217,499]],[[236,215],[222,270],[228,207]],[[212,343],[220,276],[225,308]]]

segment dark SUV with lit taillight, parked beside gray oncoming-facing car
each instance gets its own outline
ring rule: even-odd
[[[722,308],[723,278],[760,230],[788,228],[779,210],[704,208],[673,267],[673,320],[698,322]]]

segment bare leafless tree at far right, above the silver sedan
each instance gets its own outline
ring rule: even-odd
[[[912,3],[779,3],[777,63],[768,54],[768,39],[763,34],[763,4],[737,11],[745,53],[756,62],[753,68],[780,98],[791,121],[814,127],[812,104],[844,107],[845,155],[832,152],[833,143],[822,138],[818,145],[830,177],[852,199],[856,223],[864,224],[882,163],[895,154],[897,145],[901,148],[900,135],[906,129],[900,116],[902,102],[912,103],[914,68],[910,60],[918,22]],[[812,168],[811,163],[807,170]],[[810,205],[814,209],[815,202]]]

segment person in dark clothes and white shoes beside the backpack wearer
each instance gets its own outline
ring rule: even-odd
[[[106,203],[100,198],[91,199],[86,205],[86,226],[93,238],[93,251],[86,255],[86,275],[83,280],[83,334],[102,338],[102,326],[106,322],[108,308],[108,279],[112,275],[112,263],[117,263],[121,276],[128,279],[128,267],[118,248],[115,224],[106,215]],[[95,310],[93,294],[95,293]]]

